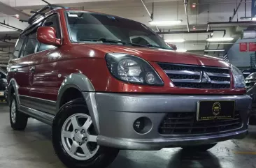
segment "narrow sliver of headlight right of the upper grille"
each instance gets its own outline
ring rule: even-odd
[[[231,65],[231,70],[234,78],[234,87],[235,88],[245,88],[246,82],[243,77],[243,73],[236,68],[235,66]]]

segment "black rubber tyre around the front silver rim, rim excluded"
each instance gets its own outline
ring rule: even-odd
[[[66,119],[69,118],[69,116],[78,113],[89,115],[85,102],[68,102],[67,105],[64,105],[64,107],[60,109],[59,115],[55,116],[55,121],[52,125],[52,144],[55,148],[55,152],[57,153],[59,159],[62,160],[62,162],[64,162],[64,164],[68,167],[104,167],[105,161],[102,160],[105,160],[104,158],[111,155],[111,151],[117,155],[117,149],[99,146],[97,153],[89,160],[76,160],[72,158],[64,149],[61,138],[62,125]],[[106,165],[107,164],[108,163],[106,163]]]

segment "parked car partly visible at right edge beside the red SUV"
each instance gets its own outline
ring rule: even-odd
[[[253,99],[252,109],[256,113],[256,72],[246,77],[246,91],[248,96]],[[250,125],[256,125],[256,115],[250,117]]]

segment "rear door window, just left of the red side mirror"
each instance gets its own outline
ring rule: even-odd
[[[29,54],[34,54],[37,44],[38,44],[38,41],[36,40],[36,31],[34,31],[33,33],[31,33],[29,35],[29,38],[27,39],[27,43],[24,48],[23,56],[27,56]]]

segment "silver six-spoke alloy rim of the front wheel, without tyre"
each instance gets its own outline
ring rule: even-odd
[[[87,114],[73,114],[62,125],[62,144],[76,160],[88,160],[99,150],[92,119]]]

